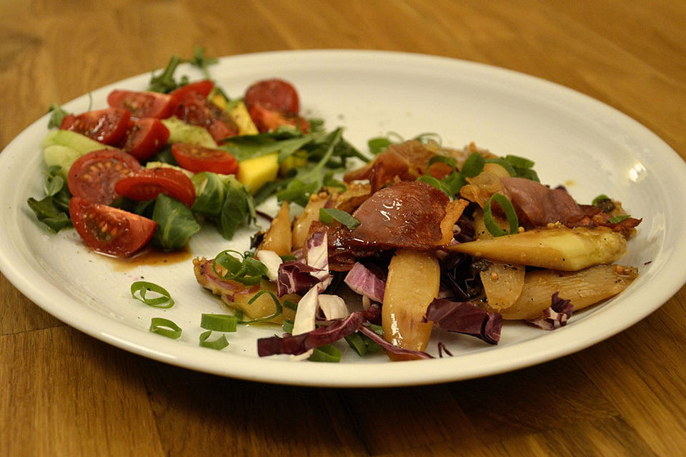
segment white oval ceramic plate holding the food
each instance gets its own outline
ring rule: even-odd
[[[185,67],[182,73],[199,77]],[[498,346],[434,334],[429,352],[436,353],[440,339],[452,358],[391,363],[382,355],[359,358],[352,350],[338,364],[258,358],[256,339],[279,329],[256,327],[227,334],[230,346],[221,352],[201,348],[200,314],[222,307],[197,285],[190,261],[122,269],[84,248],[74,231],[54,235],[36,222],[26,199],[42,196],[44,117],[0,155],[0,269],[31,301],[102,341],[199,371],[310,386],[401,386],[500,373],[579,351],[640,321],[686,281],[680,233],[686,226],[684,162],[645,127],[587,96],[490,66],[378,51],[232,56],[212,67],[212,74],[232,96],[257,79],[292,81],[308,116],[325,119],[329,128],[345,126],[344,135],[362,150],[367,139],[389,131],[406,138],[437,132],[447,146],[476,141],[498,155],[530,157],[545,184],[566,184],[578,201],[597,194],[620,199],[644,219],[622,260],[637,266],[640,276],[620,296],[575,314],[557,331],[506,323]],[[106,106],[112,89],[142,90],[148,81],[143,74],[94,91],[92,106]],[[65,108],[86,111],[90,103],[84,95]],[[190,247],[199,256],[229,246],[242,250],[251,232],[227,243],[208,229]],[[174,308],[156,310],[132,299],[129,286],[141,277],[166,287],[177,301]],[[149,333],[154,316],[171,318],[184,329],[182,337]]]

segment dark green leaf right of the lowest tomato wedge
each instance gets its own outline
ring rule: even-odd
[[[166,194],[157,197],[152,220],[157,223],[156,243],[172,251],[186,246],[191,236],[200,231],[191,209]]]

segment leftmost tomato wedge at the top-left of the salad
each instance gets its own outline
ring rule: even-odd
[[[78,116],[74,114],[64,116],[59,128],[75,131],[101,143],[115,146],[124,139],[126,129],[129,128],[129,119],[131,119],[131,113],[125,109],[97,109]]]

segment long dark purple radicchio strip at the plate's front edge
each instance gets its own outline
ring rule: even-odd
[[[260,357],[275,354],[298,356],[310,349],[333,343],[351,335],[362,328],[365,321],[379,316],[380,313],[381,310],[378,306],[372,306],[366,311],[355,311],[347,318],[338,319],[329,326],[315,328],[307,333],[259,338],[257,340],[257,354]]]

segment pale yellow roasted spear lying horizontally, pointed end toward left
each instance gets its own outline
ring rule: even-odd
[[[624,255],[627,241],[606,227],[535,229],[489,240],[448,246],[449,251],[504,263],[521,263],[562,271],[579,271],[612,263]]]

